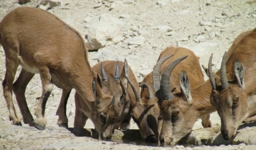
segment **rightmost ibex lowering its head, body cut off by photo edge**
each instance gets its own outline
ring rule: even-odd
[[[240,40],[226,61],[223,55],[220,68],[220,83],[217,83],[209,68],[212,93],[211,103],[221,119],[221,133],[225,140],[234,138],[243,121],[256,120],[252,98],[256,94],[256,29]],[[211,63],[211,58],[209,64]],[[220,86],[221,85],[221,86]]]

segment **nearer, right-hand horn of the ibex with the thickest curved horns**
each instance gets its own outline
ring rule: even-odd
[[[173,71],[175,66],[178,65],[178,63],[180,63],[180,61],[183,61],[185,58],[187,58],[187,56],[183,56],[183,57],[176,59],[164,70],[164,73],[162,74],[161,82],[160,82],[160,98],[161,98],[161,100],[169,100],[169,99],[174,98],[174,96],[171,92],[171,89],[170,89],[171,72]]]

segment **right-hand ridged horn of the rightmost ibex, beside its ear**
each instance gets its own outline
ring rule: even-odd
[[[228,77],[227,77],[227,71],[226,71],[226,54],[227,51],[223,55],[223,59],[221,61],[221,67],[220,67],[220,82],[222,89],[228,88]]]

